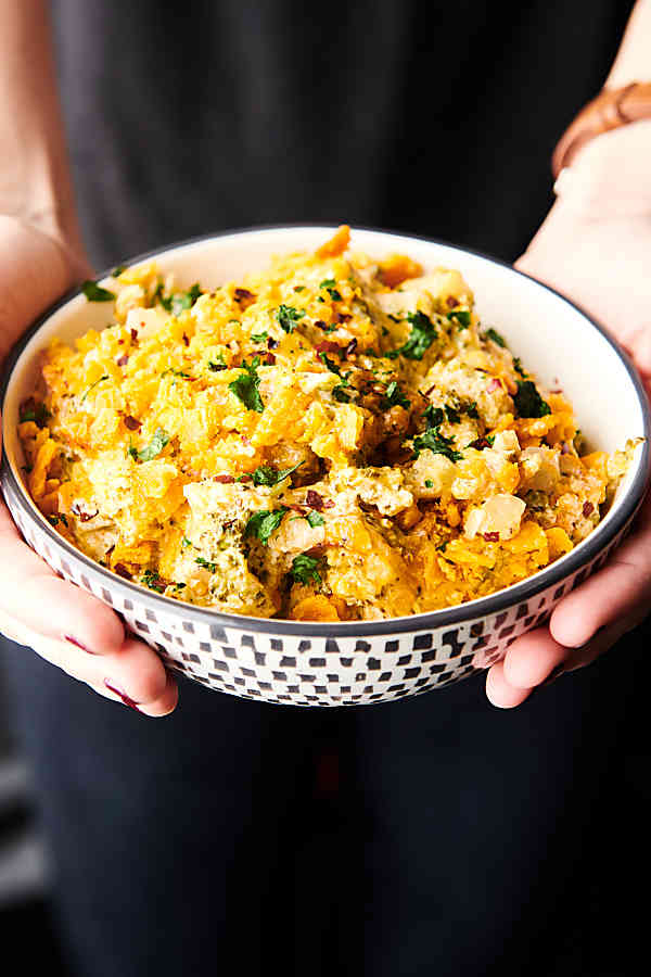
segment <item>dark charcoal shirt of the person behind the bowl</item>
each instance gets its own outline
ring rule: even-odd
[[[630,2],[53,0],[82,227],[105,267],[328,221],[513,259]]]

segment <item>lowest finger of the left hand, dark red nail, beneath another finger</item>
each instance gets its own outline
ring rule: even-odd
[[[137,638],[127,638],[111,654],[92,655],[69,642],[35,634],[3,612],[0,612],[0,630],[105,698],[145,715],[167,715],[177,705],[173,676],[154,649]]]

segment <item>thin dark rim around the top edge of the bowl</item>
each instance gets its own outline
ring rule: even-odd
[[[297,224],[271,224],[256,225],[252,227],[232,228],[226,230],[214,231],[209,233],[197,234],[187,238],[182,241],[165,244],[146,252],[137,254],[130,258],[126,258],[120,264],[135,265],[161,256],[169,251],[176,251],[192,244],[215,240],[217,238],[234,238],[248,237],[265,231],[273,230],[323,230],[324,233],[332,232],[336,229],[335,225],[315,223],[297,223]],[[125,600],[132,604],[151,604],[158,608],[162,612],[181,614],[197,624],[217,625],[219,627],[229,627],[237,631],[252,631],[265,634],[277,634],[281,636],[294,637],[324,637],[324,638],[363,638],[367,636],[382,636],[398,633],[411,633],[434,631],[447,625],[458,625],[464,621],[475,621],[480,618],[506,611],[523,601],[528,601],[537,594],[547,591],[554,585],[560,585],[564,580],[572,576],[585,566],[590,563],[599,553],[608,547],[608,545],[616,538],[616,536],[633,520],[637,510],[642,504],[651,477],[651,410],[647,392],[629,355],[623,350],[615,340],[608,333],[603,326],[599,323],[585,308],[576,302],[562,295],[551,286],[538,281],[532,275],[514,268],[508,262],[497,258],[494,255],[486,254],[472,248],[463,248],[459,244],[451,244],[441,238],[431,238],[425,234],[405,233],[400,230],[392,230],[387,228],[369,227],[369,226],[352,226],[352,233],[356,231],[367,231],[378,234],[391,234],[394,237],[405,238],[406,240],[422,241],[427,244],[435,244],[447,248],[461,254],[470,254],[475,257],[483,258],[490,264],[507,269],[510,274],[526,278],[533,281],[538,288],[551,292],[559,302],[569,305],[573,310],[588,320],[593,329],[601,334],[610,345],[612,352],[622,361],[630,383],[637,395],[638,404],[641,408],[643,424],[643,443],[641,446],[641,456],[639,458],[637,471],[626,488],[626,494],[617,506],[617,509],[611,520],[607,523],[600,523],[592,533],[586,537],[580,548],[575,548],[566,554],[562,559],[539,570],[532,576],[526,578],[516,584],[511,584],[485,597],[477,597],[474,600],[465,601],[454,607],[439,608],[438,610],[424,611],[418,614],[408,614],[401,618],[384,618],[380,621],[339,621],[318,623],[314,621],[290,621],[285,618],[254,618],[245,614],[228,613],[225,611],[214,610],[208,607],[197,607],[196,605],[186,604],[182,600],[176,600],[173,597],[165,597],[154,591],[148,591],[140,584],[131,583],[124,580],[117,574],[106,570],[100,563],[87,557],[81,550],[76,549],[71,543],[63,538],[49,522],[43,518],[37,518],[34,511],[34,503],[28,498],[25,488],[14,475],[10,460],[8,458],[4,444],[2,446],[2,460],[0,466],[0,480],[3,492],[8,490],[13,496],[13,500],[20,505],[24,515],[35,523],[41,532],[43,532],[51,544],[62,549],[66,557],[81,564],[85,572],[99,576],[107,586],[110,585],[114,592],[120,595]],[[101,281],[111,276],[115,266],[100,272],[97,280]],[[21,339],[10,351],[7,356],[2,372],[0,375],[0,404],[4,405],[4,397],[11,382],[13,369],[21,357],[25,346],[29,340],[38,332],[41,326],[60,308],[81,294],[81,286],[76,286],[65,292],[60,299],[50,305],[34,323],[23,333]],[[577,551],[578,550],[578,551]]]

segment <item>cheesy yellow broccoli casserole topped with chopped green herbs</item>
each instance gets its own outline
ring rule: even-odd
[[[21,408],[56,531],[167,597],[307,621],[458,605],[585,538],[630,453],[584,452],[459,271],[349,243],[219,288],[87,282],[108,325],[54,342]]]

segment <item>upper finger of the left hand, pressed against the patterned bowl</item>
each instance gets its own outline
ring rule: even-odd
[[[125,638],[117,614],[92,594],[67,583],[31,550],[0,505],[0,611],[30,632],[69,638],[94,655],[116,651]]]

